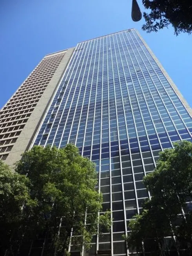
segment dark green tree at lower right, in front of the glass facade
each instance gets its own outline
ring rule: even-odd
[[[165,255],[163,251],[179,251],[183,246],[186,249],[187,243],[192,242],[192,215],[190,204],[186,204],[192,201],[192,143],[178,142],[174,149],[161,152],[157,167],[143,178],[143,183],[152,198],[144,203],[143,212],[130,221],[128,247],[151,251],[150,255]],[[168,248],[166,236],[176,237]],[[191,255],[188,247],[185,255]]]

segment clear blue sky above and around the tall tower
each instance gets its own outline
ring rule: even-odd
[[[192,35],[147,34],[130,17],[132,0],[0,0],[0,107],[45,54],[136,28],[192,106]],[[143,10],[141,0],[138,0]]]

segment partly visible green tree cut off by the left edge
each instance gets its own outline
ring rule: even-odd
[[[24,233],[27,211],[35,205],[29,179],[0,161],[0,255],[15,255]]]

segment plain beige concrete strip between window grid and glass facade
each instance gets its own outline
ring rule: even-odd
[[[75,49],[75,47],[69,48],[67,50],[63,50],[63,51],[67,51],[65,56],[63,57],[62,61],[60,62],[53,77],[51,78],[51,81],[47,85],[40,100],[38,101],[36,107],[34,108],[33,112],[31,113],[31,116],[27,120],[27,123],[26,123],[24,129],[20,133],[17,141],[14,143],[13,148],[11,149],[9,155],[7,156],[7,159],[5,160],[5,163],[7,163],[8,165],[14,165],[14,163],[16,163],[18,160],[21,159],[21,154],[30,148],[31,143],[33,142],[33,139],[38,131],[38,128],[40,127],[40,125],[43,121],[43,117],[46,114],[47,108],[49,107],[49,104],[51,103],[54,93],[55,93],[58,85],[60,84],[63,73],[65,72],[65,69],[69,63],[69,60],[71,59],[74,49]],[[53,55],[60,54],[63,51],[53,53]],[[46,58],[46,56],[51,56],[51,55],[52,54],[47,54],[47,55],[45,55],[44,58]]]

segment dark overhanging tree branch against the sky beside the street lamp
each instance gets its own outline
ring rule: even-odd
[[[142,29],[147,32],[163,29],[172,25],[175,34],[192,32],[192,2],[188,0],[142,0],[149,13],[144,12],[145,24]]]

